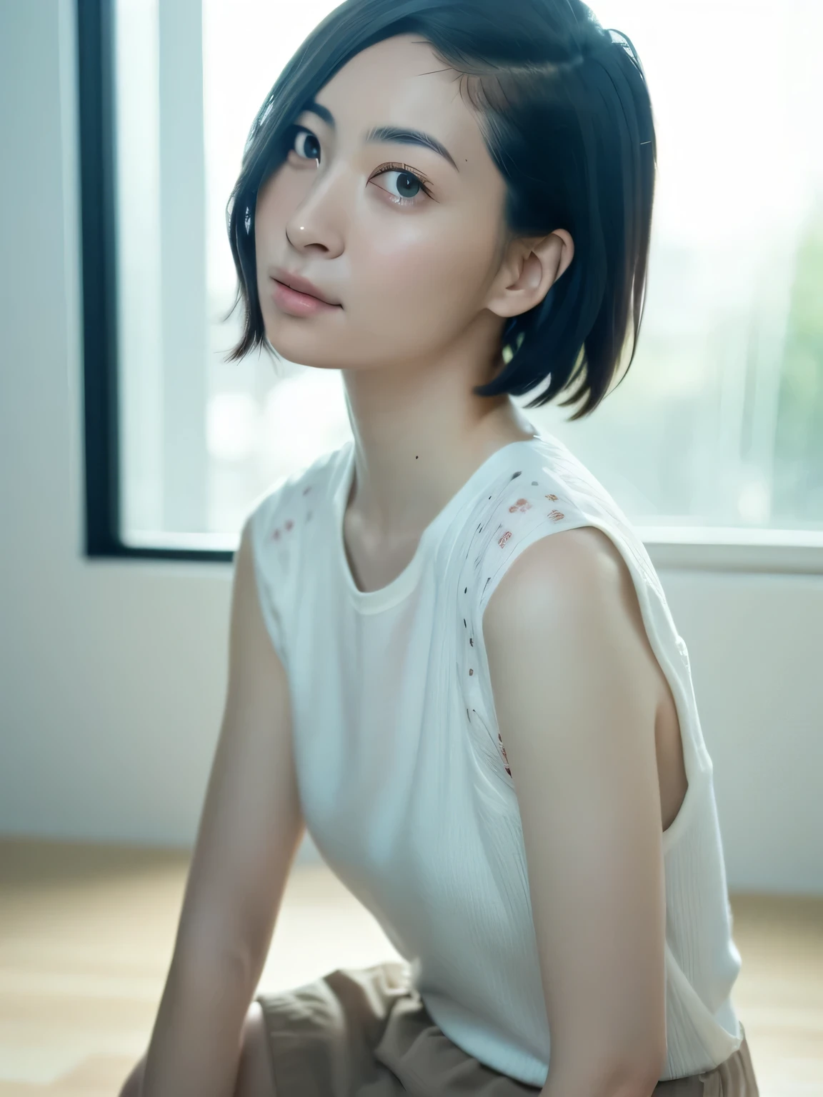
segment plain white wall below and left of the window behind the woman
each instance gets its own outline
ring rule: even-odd
[[[82,555],[75,84],[74,0],[0,0],[0,833],[190,846],[232,567]],[[823,576],[661,578],[731,890],[823,893]]]

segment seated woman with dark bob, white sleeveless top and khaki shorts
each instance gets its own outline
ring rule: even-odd
[[[633,358],[654,172],[642,67],[579,0],[348,0],[267,98],[233,357],[341,370],[353,440],[245,524],[129,1093],[757,1094],[686,647],[510,398],[578,418]],[[305,826],[405,960],[251,1000]]]

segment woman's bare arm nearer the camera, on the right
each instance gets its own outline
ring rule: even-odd
[[[662,670],[608,535],[525,548],[484,640],[552,1034],[537,1097],[651,1094],[666,1062]]]

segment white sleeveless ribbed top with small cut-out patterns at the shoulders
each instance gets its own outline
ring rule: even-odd
[[[361,591],[342,517],[348,441],[252,504],[262,612],[286,668],[306,827],[406,959],[430,1016],[480,1062],[545,1083],[551,1037],[515,785],[481,629],[528,545],[595,525],[617,545],[675,699],[688,791],[663,834],[666,1031],[662,1079],[741,1044],[712,762],[684,641],[643,543],[606,489],[542,433],[492,454],[387,586]],[[550,668],[548,668],[550,669]]]

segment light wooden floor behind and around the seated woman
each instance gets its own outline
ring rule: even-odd
[[[116,1097],[146,1050],[187,870],[185,853],[0,839],[0,1097]],[[823,1097],[823,897],[731,901],[762,1097]],[[260,986],[396,955],[325,866],[301,866]]]

